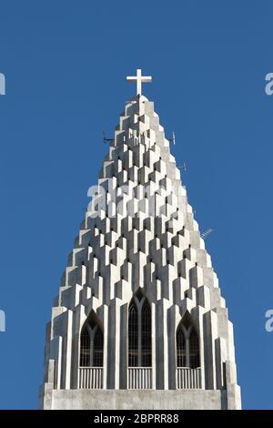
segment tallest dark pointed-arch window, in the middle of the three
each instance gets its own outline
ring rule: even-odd
[[[129,305],[128,317],[128,366],[152,365],[151,308],[138,290]]]

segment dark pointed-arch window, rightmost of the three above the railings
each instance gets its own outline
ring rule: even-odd
[[[199,338],[189,314],[177,327],[177,367],[200,367]]]

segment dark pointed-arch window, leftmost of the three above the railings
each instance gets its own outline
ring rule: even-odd
[[[91,314],[82,329],[80,339],[80,367],[102,367],[104,360],[104,336],[96,321],[95,314]]]

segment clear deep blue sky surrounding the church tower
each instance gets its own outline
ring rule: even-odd
[[[1,1],[0,408],[37,407],[45,322],[136,67],[215,230],[243,406],[273,408],[272,14],[267,0]]]

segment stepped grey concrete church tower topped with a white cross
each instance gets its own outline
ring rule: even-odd
[[[46,327],[44,409],[240,409],[232,323],[136,81]],[[92,194],[92,195],[91,195]]]

